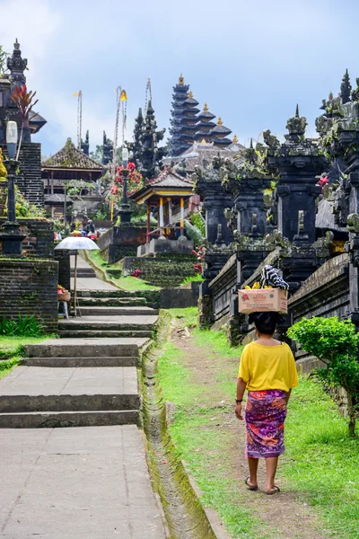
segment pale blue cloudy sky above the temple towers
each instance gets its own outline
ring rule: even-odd
[[[355,0],[0,0],[0,44],[12,51],[18,38],[28,58],[28,87],[48,119],[34,137],[44,155],[75,140],[80,89],[91,149],[103,129],[113,136],[118,85],[132,136],[148,75],[168,128],[180,72],[246,145],[265,128],[282,136],[297,102],[314,136],[321,100],[346,67],[352,84],[359,76],[358,15]]]

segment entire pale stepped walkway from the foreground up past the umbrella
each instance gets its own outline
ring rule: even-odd
[[[88,267],[81,258],[79,265]],[[91,274],[78,284],[117,290]],[[93,314],[81,327],[151,329],[157,320],[150,310]],[[0,380],[0,539],[166,538],[136,426],[136,366],[146,342],[47,340],[29,346],[25,366]]]

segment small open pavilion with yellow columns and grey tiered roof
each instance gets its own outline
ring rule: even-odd
[[[194,194],[193,187],[192,181],[166,167],[158,178],[129,197],[136,204],[147,206],[147,243],[151,240],[151,234],[169,239],[173,231],[180,230],[180,235],[184,234],[185,206],[188,206]],[[158,208],[158,228],[155,230],[151,230],[150,220],[153,208]]]

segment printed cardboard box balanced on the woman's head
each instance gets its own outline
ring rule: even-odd
[[[282,288],[238,290],[239,311],[243,314],[267,311],[287,314],[287,295],[287,291]]]

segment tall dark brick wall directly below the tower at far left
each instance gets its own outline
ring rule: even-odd
[[[4,158],[7,159],[6,145],[0,145]],[[25,199],[36,206],[44,206],[44,188],[41,180],[41,145],[39,143],[22,143],[19,161],[20,172],[16,184]]]

